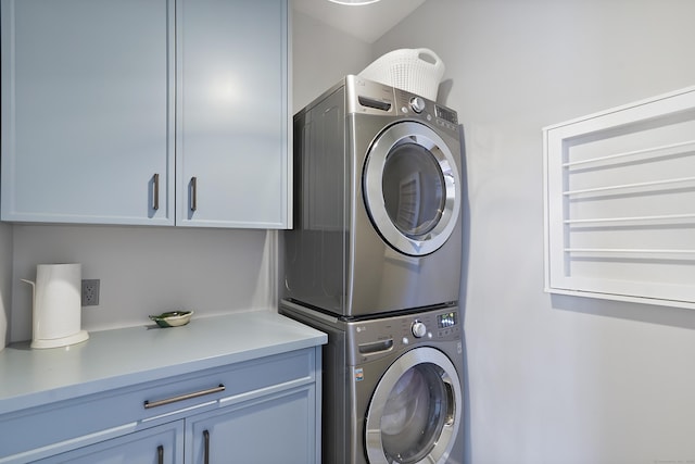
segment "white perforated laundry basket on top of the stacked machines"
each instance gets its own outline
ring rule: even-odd
[[[359,76],[437,100],[444,63],[426,48],[391,51],[365,67]]]

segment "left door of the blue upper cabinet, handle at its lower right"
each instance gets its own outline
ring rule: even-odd
[[[174,0],[1,7],[2,220],[174,224]]]

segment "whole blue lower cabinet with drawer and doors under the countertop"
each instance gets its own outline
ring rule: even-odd
[[[0,464],[316,464],[320,347],[0,415]]]

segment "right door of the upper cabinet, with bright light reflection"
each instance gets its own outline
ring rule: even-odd
[[[177,0],[177,225],[287,228],[287,0]]]

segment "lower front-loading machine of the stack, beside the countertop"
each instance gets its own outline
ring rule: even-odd
[[[463,328],[457,306],[346,319],[281,301],[328,334],[321,454],[327,464],[460,464]]]

